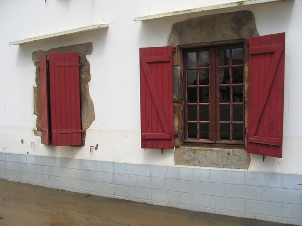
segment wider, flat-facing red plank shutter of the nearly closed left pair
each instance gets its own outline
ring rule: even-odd
[[[82,145],[78,53],[49,53],[52,146]]]

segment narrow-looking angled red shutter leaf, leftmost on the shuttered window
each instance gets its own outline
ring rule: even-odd
[[[48,70],[46,55],[40,58],[40,101],[41,101],[41,131],[42,144],[49,145],[49,96],[48,96]]]

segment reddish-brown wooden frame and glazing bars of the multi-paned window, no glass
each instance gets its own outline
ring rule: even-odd
[[[219,49],[232,49],[232,48],[242,48],[243,49],[243,64],[240,65],[232,65],[232,63],[230,62],[229,65],[226,66],[219,66],[218,65],[218,50]],[[191,67],[189,69],[196,69],[196,77],[198,77],[198,70],[199,69],[209,69],[209,84],[208,85],[193,85],[193,86],[189,86],[189,87],[209,87],[209,96],[213,96],[214,98],[210,98],[209,103],[200,103],[197,102],[196,103],[188,103],[187,102],[187,53],[188,52],[200,52],[200,51],[208,51],[209,52],[209,62],[210,64],[207,67],[199,67],[196,63],[196,68]],[[201,47],[201,48],[190,48],[190,49],[183,49],[183,62],[184,62],[184,108],[185,108],[185,116],[184,116],[184,143],[186,144],[193,144],[193,145],[198,145],[198,143],[202,143],[204,144],[209,144],[209,145],[236,145],[236,146],[243,146],[245,144],[245,136],[246,136],[246,131],[245,131],[245,73],[244,73],[244,67],[245,67],[245,52],[246,52],[246,48],[244,43],[242,44],[234,44],[234,45],[220,45],[220,46],[209,46],[209,47]],[[230,60],[232,60],[230,58]],[[198,54],[196,54],[196,61],[198,62]],[[234,68],[234,67],[242,67],[243,70],[243,83],[240,84],[229,84],[229,85],[221,85],[219,84],[219,72],[218,72],[218,68]],[[231,76],[230,76],[231,77]],[[243,140],[233,140],[232,139],[232,127],[230,126],[230,140],[219,140],[219,87],[223,87],[223,86],[229,86],[230,88],[234,87],[234,86],[242,86],[243,89],[243,100],[240,103],[233,103],[233,101],[231,101],[232,96],[232,92],[230,93],[230,103],[226,103],[230,105],[230,121],[229,122],[225,122],[225,123],[229,123],[230,125],[234,125],[234,124],[242,124],[243,125]],[[197,91],[196,93],[197,95],[197,99],[199,99],[199,91]],[[220,103],[221,104],[221,103]],[[188,118],[187,118],[187,114],[188,114],[188,105],[196,105],[197,106],[197,110],[196,110],[196,121],[190,121],[191,123],[196,123],[197,124],[197,139],[196,138],[188,138]],[[209,121],[202,121],[199,119],[199,106],[200,105],[209,105]],[[221,104],[223,105],[223,104]],[[233,105],[243,105],[243,121],[241,122],[236,122],[234,123],[232,121],[232,106]],[[199,136],[199,123],[209,123],[209,138],[208,139],[202,139]]]

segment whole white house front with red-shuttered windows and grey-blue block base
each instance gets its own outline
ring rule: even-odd
[[[302,224],[302,107],[298,102],[302,98],[298,69],[302,1],[31,0],[3,1],[0,6],[0,178],[195,211]],[[280,43],[271,41],[267,49],[272,45],[281,49],[273,53],[266,49],[270,58],[253,61],[253,51],[257,51],[251,47],[253,38],[273,34],[285,41],[282,37]],[[258,42],[255,48],[262,46],[261,40]],[[163,47],[163,53],[153,54],[153,47]],[[272,73],[264,62],[272,65],[279,50],[273,75],[281,74],[281,82],[274,89],[267,85],[269,76],[262,78],[252,68],[263,64],[263,73]],[[75,74],[80,77],[81,103],[75,108],[81,111],[81,125],[73,128],[75,132],[68,132],[68,128],[57,132],[59,129],[51,124],[65,117],[68,125],[68,119],[74,118],[71,115],[77,109],[67,110],[73,100],[66,94],[57,97],[65,101],[59,103],[59,116],[50,113],[54,105],[46,100],[46,122],[52,126],[51,135],[44,135],[40,59],[46,56],[49,72],[45,71],[51,77],[57,73],[51,69],[51,52],[68,56],[79,53],[75,57],[79,61],[63,62],[68,68],[79,68]],[[241,61],[236,63],[239,58]],[[228,63],[220,63],[223,59]],[[159,61],[170,62],[160,66],[168,67],[168,75],[150,66]],[[144,71],[144,62],[149,72]],[[191,62],[195,66],[190,66]],[[64,76],[69,75],[62,71]],[[148,73],[150,77],[168,76],[166,82],[157,80],[154,85],[155,90],[166,90],[159,94],[163,109],[157,108],[156,98],[143,97],[153,92]],[[228,79],[223,79],[221,73]],[[238,73],[241,78],[237,78]],[[254,74],[260,74],[258,83],[251,80]],[[53,79],[57,84],[61,77]],[[217,84],[212,85],[214,82]],[[59,90],[74,86],[69,80],[64,84]],[[256,97],[252,97],[254,86],[260,90]],[[56,98],[52,95],[60,91],[53,91],[51,84],[49,87],[50,99]],[[261,93],[266,89],[274,94],[262,101]],[[259,119],[259,125],[263,122],[263,131],[270,127],[271,136],[262,131],[259,133],[264,139],[259,134],[252,134],[256,138],[250,139],[249,123],[254,115],[263,115],[253,107],[267,101],[271,101],[271,113]],[[168,131],[164,120],[168,121]],[[150,135],[149,124],[159,125],[162,131]],[[278,130],[281,137],[274,134]],[[80,144],[55,143],[56,133],[78,133]],[[50,142],[45,144],[43,136],[48,136]],[[144,146],[144,139],[161,141]],[[255,139],[258,146],[250,151]],[[167,140],[173,147],[165,146]],[[266,152],[271,143],[279,147],[278,151],[271,148]]]

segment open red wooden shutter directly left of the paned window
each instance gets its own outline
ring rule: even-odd
[[[141,148],[174,148],[172,52],[139,49]]]

